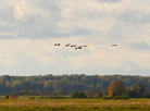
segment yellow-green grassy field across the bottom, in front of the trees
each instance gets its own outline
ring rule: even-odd
[[[0,111],[150,111],[150,99],[1,99]]]

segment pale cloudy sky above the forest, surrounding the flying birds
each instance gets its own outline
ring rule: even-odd
[[[149,76],[149,5],[150,0],[0,0],[0,75]]]

